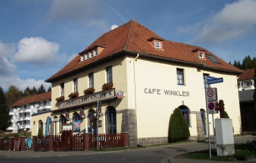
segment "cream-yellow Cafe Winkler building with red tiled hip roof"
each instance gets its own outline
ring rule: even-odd
[[[224,80],[210,87],[218,89],[234,134],[240,134],[236,76],[242,72],[204,48],[164,40],[132,19],[100,36],[46,80],[52,83],[52,99],[65,97],[52,101],[51,119],[58,119],[54,131],[61,133],[63,123],[73,123],[73,133],[94,131],[98,95],[99,133],[129,132],[129,146],[166,143],[170,115],[179,107],[190,139],[201,140],[207,134],[203,77],[213,76]],[[104,83],[113,88],[102,90]],[[85,95],[88,88],[95,92]]]

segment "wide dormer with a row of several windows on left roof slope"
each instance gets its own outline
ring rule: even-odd
[[[104,48],[106,48],[106,46],[96,45],[92,46],[92,48],[84,50],[83,52],[79,52],[79,55],[81,56],[80,62],[88,60],[94,56],[98,56],[104,50]]]

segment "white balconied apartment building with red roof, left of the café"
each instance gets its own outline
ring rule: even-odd
[[[17,133],[22,131],[31,131],[33,113],[51,111],[51,92],[24,97],[10,106],[9,115],[11,115],[11,126],[7,131]],[[20,126],[18,127],[18,123]]]

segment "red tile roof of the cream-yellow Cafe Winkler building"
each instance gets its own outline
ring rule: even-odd
[[[123,52],[130,52],[131,54],[139,54],[139,56],[148,56],[153,58],[162,58],[167,60],[172,60],[174,62],[185,62],[187,64],[196,64],[203,68],[211,68],[221,71],[228,71],[235,74],[242,73],[243,70],[240,70],[211,52],[205,50],[206,54],[211,54],[214,56],[220,64],[212,62],[209,58],[206,57],[206,60],[200,60],[191,50],[195,49],[204,49],[199,46],[191,46],[188,44],[182,44],[179,42],[172,42],[162,39],[162,48],[163,50],[156,50],[148,39],[158,38],[162,39],[160,36],[148,30],[148,28],[141,25],[134,19],[131,21],[106,32],[100,38],[95,40],[90,46],[88,46],[83,52],[79,54],[85,54],[86,50],[90,50],[95,46],[105,46],[104,50],[84,62],[80,62],[80,55],[77,55],[71,62],[69,62],[65,67],[63,67],[59,72],[46,79],[46,82],[53,82],[58,78],[62,78],[65,75],[69,75],[77,70],[82,70],[87,66],[101,62],[107,58],[114,57],[116,55],[121,55]]]

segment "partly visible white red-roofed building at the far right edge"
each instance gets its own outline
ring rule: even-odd
[[[254,87],[254,68],[245,70],[243,74],[239,74],[237,79],[238,91],[255,89]]]

